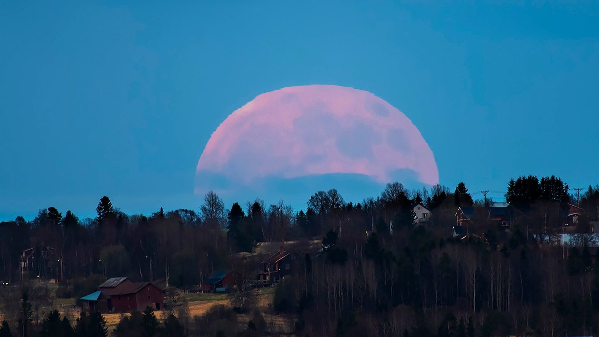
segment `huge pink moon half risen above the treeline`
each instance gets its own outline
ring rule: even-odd
[[[426,185],[439,180],[431,149],[406,115],[367,91],[307,85],[261,94],[231,113],[208,140],[196,176],[252,185],[352,173],[386,183],[397,170]]]

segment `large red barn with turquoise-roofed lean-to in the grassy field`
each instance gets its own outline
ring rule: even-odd
[[[109,278],[97,291],[81,297],[84,309],[100,312],[143,311],[146,307],[164,309],[162,289],[152,282],[133,282],[126,277]]]

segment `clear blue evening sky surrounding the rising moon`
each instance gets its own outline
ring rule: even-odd
[[[597,22],[599,3],[571,1],[5,1],[0,220],[90,216],[102,195],[128,213],[197,210],[195,166],[220,122],[308,84],[400,109],[450,188],[594,185]]]

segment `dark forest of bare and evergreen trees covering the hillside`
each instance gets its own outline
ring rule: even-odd
[[[72,327],[58,312],[34,320],[23,296],[35,293],[40,279],[54,279],[57,296],[74,298],[113,276],[193,289],[219,269],[255,279],[264,258],[255,252],[264,243],[292,252],[292,273],[276,285],[269,308],[291,317],[295,336],[598,333],[593,233],[599,185],[572,193],[558,177],[521,176],[507,183],[505,198],[508,227],[486,216],[494,201],[473,200],[465,183],[418,190],[388,183],[380,195],[357,203],[336,189],[317,191],[299,212],[283,200],[267,205],[259,198],[226,208],[214,192],[196,210],[159,209],[149,216],[128,215],[107,196],[99,199],[93,219],[48,207],[31,221],[0,222],[0,337],[10,329],[13,336],[25,336],[27,329],[31,336],[54,336],[44,332],[49,326],[66,334],[60,324],[72,336],[92,328],[98,336],[107,334],[96,313],[82,314]],[[418,204],[431,212],[428,221],[415,222]],[[567,245],[544,240],[564,231],[570,205],[582,210],[577,225],[568,228],[573,239]],[[454,234],[458,207],[474,207],[477,214],[464,236]],[[23,252],[31,248],[38,255],[23,270]],[[20,300],[9,301],[9,292]],[[252,312],[251,305],[241,306]],[[268,335],[256,323],[259,312],[247,329],[208,327],[233,320],[231,310],[214,308],[195,323],[180,322],[173,312],[160,320],[137,312],[119,327],[128,331],[123,336],[135,329],[140,336]]]

